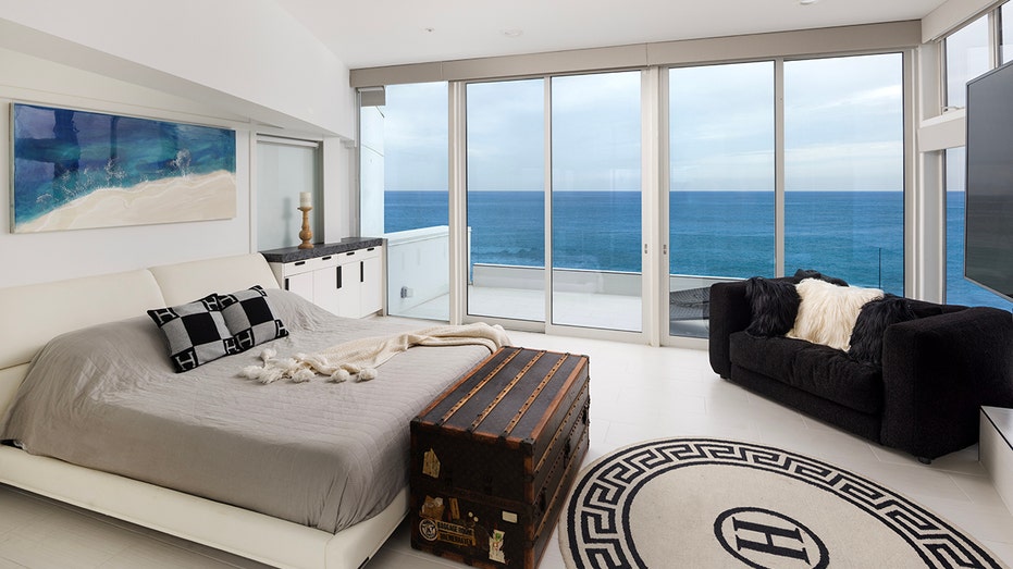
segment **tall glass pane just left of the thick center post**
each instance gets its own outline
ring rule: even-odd
[[[639,332],[640,72],[552,79],[554,324]]]

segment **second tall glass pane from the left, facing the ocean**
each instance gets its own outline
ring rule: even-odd
[[[468,313],[545,321],[542,79],[467,86]]]

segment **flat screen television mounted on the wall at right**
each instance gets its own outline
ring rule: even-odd
[[[967,83],[964,277],[1013,300],[1013,62]]]

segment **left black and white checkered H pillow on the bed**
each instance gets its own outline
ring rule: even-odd
[[[176,372],[192,370],[240,349],[225,325],[218,295],[170,308],[148,310],[169,343]]]

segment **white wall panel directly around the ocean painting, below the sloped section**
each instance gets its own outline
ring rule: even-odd
[[[12,101],[236,128],[236,218],[222,221],[36,234],[11,231]],[[250,132],[240,116],[0,49],[0,287],[184,260],[239,255],[251,248]]]

